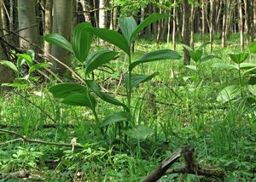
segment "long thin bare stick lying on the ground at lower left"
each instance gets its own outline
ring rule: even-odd
[[[23,136],[15,131],[9,131],[5,129],[0,129],[0,132],[3,132],[5,134],[14,134],[18,136],[20,139],[22,139],[24,142],[27,143],[34,143],[34,144],[42,144],[42,145],[55,145],[55,146],[67,146],[67,147],[75,147],[75,148],[83,148],[81,145],[73,145],[73,144],[66,144],[66,143],[56,143],[56,142],[49,142],[49,141],[44,141],[40,139],[27,139],[26,136]]]

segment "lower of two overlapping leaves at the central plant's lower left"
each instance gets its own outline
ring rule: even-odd
[[[96,107],[96,100],[88,93],[73,93],[68,94],[61,100],[61,103],[67,105],[78,105],[89,107],[91,110],[94,110]]]

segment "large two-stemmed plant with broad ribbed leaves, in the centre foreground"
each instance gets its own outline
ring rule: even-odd
[[[124,131],[124,129],[127,131],[129,128],[134,128],[135,123],[132,121],[133,116],[131,112],[132,90],[137,89],[137,86],[140,83],[151,80],[158,74],[158,72],[154,72],[151,75],[143,75],[133,73],[133,69],[137,65],[143,63],[148,63],[155,60],[178,60],[181,58],[181,56],[177,54],[177,52],[170,49],[161,49],[143,54],[143,56],[138,60],[132,61],[131,44],[134,42],[135,37],[137,37],[137,34],[142,31],[143,28],[156,20],[167,17],[168,15],[166,14],[151,14],[138,26],[133,17],[119,18],[119,28],[122,34],[105,28],[94,28],[91,27],[89,23],[84,22],[75,27],[73,43],[68,43],[64,37],[61,37],[61,35],[58,34],[46,36],[45,40],[49,43],[55,43],[56,45],[61,46],[61,48],[66,48],[71,51],[75,57],[84,64],[85,75],[84,85],[74,82],[61,83],[49,88],[49,91],[54,94],[55,98],[60,98],[62,103],[89,107],[96,117],[99,128],[107,127],[109,124],[113,123],[118,124],[117,126],[119,126],[120,131]],[[126,100],[124,102],[116,100],[108,94],[102,93],[97,83],[88,79],[88,74],[91,71],[94,71],[99,66],[113,60],[113,58],[118,54],[117,52],[111,50],[102,50],[96,51],[95,53],[87,56],[90,49],[92,35],[100,37],[102,40],[108,43],[112,43],[124,51],[124,53],[128,56],[128,68],[127,72],[125,73]],[[101,122],[96,114],[96,99],[92,94],[90,94],[91,92],[108,103],[123,107],[124,111],[116,112]],[[141,128],[138,131],[142,130],[144,129]]]

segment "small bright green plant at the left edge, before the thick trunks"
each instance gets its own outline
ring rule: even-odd
[[[15,87],[15,88],[28,88],[33,82],[38,82],[39,77],[32,77],[32,73],[38,69],[47,67],[50,63],[35,63],[35,53],[33,50],[28,50],[26,54],[17,54],[18,60],[16,65],[9,60],[0,60],[1,65],[9,67],[15,72],[15,82],[14,83],[3,83],[3,86]],[[28,66],[28,73],[24,77],[22,65]]]

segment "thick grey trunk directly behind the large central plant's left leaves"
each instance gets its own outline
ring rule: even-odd
[[[53,16],[53,32],[60,33],[68,41],[70,41],[71,30],[72,30],[72,20],[73,20],[73,1],[71,0],[55,0],[54,1],[54,16]],[[55,45],[51,48],[51,53],[61,60],[64,64],[70,65],[71,58],[70,53],[60,47]],[[57,62],[52,62],[54,65],[54,70],[63,76],[66,72],[66,68]]]

